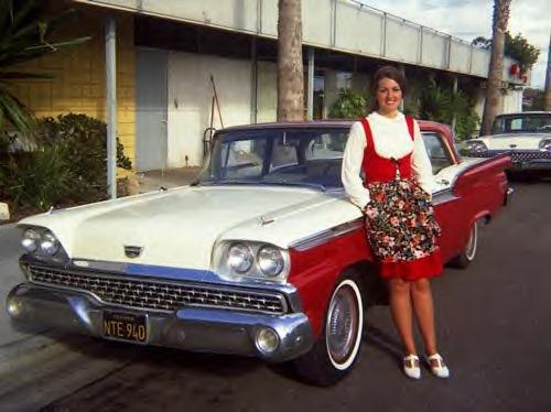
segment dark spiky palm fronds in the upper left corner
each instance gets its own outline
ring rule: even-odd
[[[13,95],[14,82],[50,78],[44,73],[26,73],[19,65],[46,54],[83,43],[89,37],[48,42],[51,32],[74,10],[43,19],[46,2],[42,0],[0,0],[0,133],[8,123],[17,130],[32,130],[32,111]],[[18,66],[17,66],[18,65]]]

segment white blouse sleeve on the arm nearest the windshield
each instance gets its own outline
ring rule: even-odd
[[[366,133],[364,132],[364,126],[357,121],[352,126],[348,133],[341,176],[350,202],[360,208],[364,208],[369,203],[369,191],[364,187],[364,182],[360,177],[365,148]]]

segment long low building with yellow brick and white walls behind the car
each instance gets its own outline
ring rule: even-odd
[[[106,22],[115,23],[117,134],[137,171],[199,165],[209,131],[276,120],[277,0],[75,0],[91,35],[71,53],[36,61],[55,75],[18,86],[39,117],[84,112],[107,119]],[[339,89],[367,91],[382,64],[478,95],[489,53],[348,0],[303,0],[306,118],[326,117]],[[520,110],[525,79],[504,69],[504,111]],[[112,66],[111,66],[112,67]],[[112,108],[111,108],[112,109]]]

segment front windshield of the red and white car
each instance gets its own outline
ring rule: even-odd
[[[341,188],[348,128],[262,129],[218,133],[197,184]]]

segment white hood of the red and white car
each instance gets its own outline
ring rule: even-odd
[[[20,225],[51,229],[72,259],[208,269],[217,241],[257,240],[288,248],[359,216],[342,195],[313,189],[204,186],[79,206]],[[142,252],[128,258],[125,246]]]

